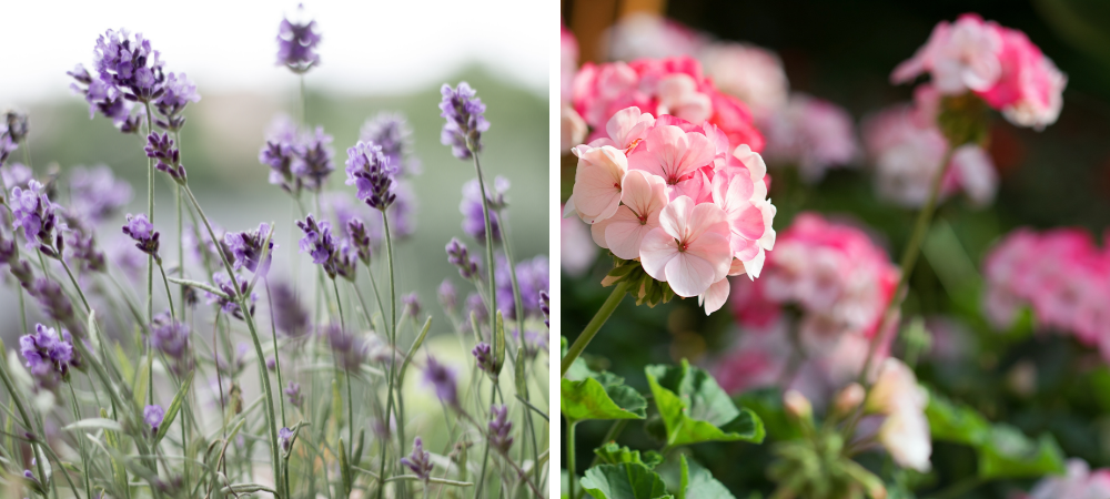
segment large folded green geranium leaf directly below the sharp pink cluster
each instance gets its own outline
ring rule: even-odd
[[[644,370],[667,427],[668,447],[703,441],[763,441],[765,430],[759,416],[737,409],[705,370],[690,367],[686,359],[679,366],[647,366]]]

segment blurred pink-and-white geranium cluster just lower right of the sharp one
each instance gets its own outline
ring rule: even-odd
[[[827,400],[859,375],[898,277],[864,231],[799,214],[779,236],[764,276],[735,282],[733,312],[743,334],[715,377],[729,391],[785,381],[815,401]],[[788,309],[799,310],[797,325]],[[885,349],[879,345],[876,355]],[[791,358],[806,360],[788,373]]]

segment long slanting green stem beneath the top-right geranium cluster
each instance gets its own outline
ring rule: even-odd
[[[902,298],[905,297],[909,286],[909,275],[914,273],[914,265],[917,263],[917,256],[921,253],[921,244],[925,243],[925,235],[929,231],[929,226],[932,223],[932,214],[937,210],[937,198],[940,196],[940,185],[944,183],[945,175],[948,173],[948,169],[952,161],[952,147],[948,147],[948,150],[945,151],[942,161],[940,170],[937,171],[937,176],[932,179],[932,186],[929,190],[929,198],[925,202],[925,206],[921,206],[921,211],[917,213],[917,222],[914,223],[914,232],[910,234],[909,242],[902,251],[899,264],[901,275],[898,277],[898,287],[895,287],[895,294],[890,297],[890,303],[887,304],[887,309],[882,316],[878,334],[871,338],[871,343],[867,349],[867,359],[864,361],[862,370],[859,371],[859,383],[865,387],[868,386],[867,373],[870,370],[871,363],[875,360],[875,352],[878,349],[879,345],[886,343],[885,337],[887,336],[887,329],[894,328],[895,330],[892,334],[895,337],[898,335],[895,323],[897,320],[898,312],[901,308]]]

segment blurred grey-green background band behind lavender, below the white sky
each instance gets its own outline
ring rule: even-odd
[[[58,80],[59,86],[69,84],[61,71]],[[401,243],[396,252],[397,292],[420,295],[425,309],[434,315],[432,334],[450,330],[450,323],[436,302],[436,287],[445,277],[451,277],[462,301],[467,286],[447,263],[444,246],[451,237],[458,237],[474,251],[481,251],[481,246],[465,236],[460,226],[461,189],[475,176],[474,165],[456,160],[450,147],[440,144],[443,119],[437,108],[438,84],[395,95],[347,95],[314,91],[311,73],[305,81],[307,121],[323,125],[335,139],[332,143],[335,172],[329,189],[347,192],[353,201],[357,201],[353,197],[354,187],[343,184],[343,167],[346,149],[357,141],[359,129],[367,118],[381,111],[401,112],[408,118],[414,152],[423,164],[423,174],[412,181],[417,203],[416,234]],[[470,82],[487,105],[486,116],[492,125],[483,135],[482,164],[487,182],[496,175],[512,182],[508,221],[515,256],[523,259],[546,254],[548,232],[547,224],[543,223],[548,213],[546,95],[506,82],[477,65],[445,80],[452,85],[458,81]],[[275,252],[273,275],[281,278],[290,268],[290,231],[295,238],[300,238],[301,232],[293,225],[296,212],[290,196],[266,182],[269,167],[259,163],[258,154],[264,144],[266,125],[275,114],[284,112],[294,119],[300,116],[300,95],[295,92],[284,95],[213,94],[206,93],[203,86],[198,91],[202,100],[189,105],[188,123],[181,134],[182,161],[190,185],[205,213],[225,230],[244,231],[258,227],[260,222],[276,222],[274,241],[282,247]],[[64,175],[74,165],[103,163],[111,166],[117,176],[130,182],[134,191],[124,213],[147,211],[147,157],[140,135],[121,134],[99,115],[89,120],[88,106],[79,95],[39,102],[23,111],[30,115],[29,142],[37,176],[44,176],[54,167]],[[12,160],[22,162],[22,151],[17,151]],[[163,255],[175,262],[173,191],[163,176],[159,173],[154,183],[155,228],[162,234]],[[189,218],[185,220],[188,223]],[[102,247],[110,248],[115,238],[122,237],[123,223],[121,213],[99,227],[98,240]],[[294,240],[294,252],[295,245]],[[299,258],[302,274],[299,282],[309,283],[311,259],[307,256]],[[360,285],[371,293],[366,281],[362,275]],[[162,293],[155,295],[161,297]],[[17,306],[13,289],[0,286],[0,330],[9,344],[20,334]],[[36,305],[31,304],[30,308],[38,314]]]

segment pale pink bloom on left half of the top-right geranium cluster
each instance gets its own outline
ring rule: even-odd
[[[904,83],[928,72],[941,93],[983,91],[1001,75],[1001,48],[998,24],[963,14],[955,23],[937,24],[929,41],[911,59],[898,64],[890,79]]]

